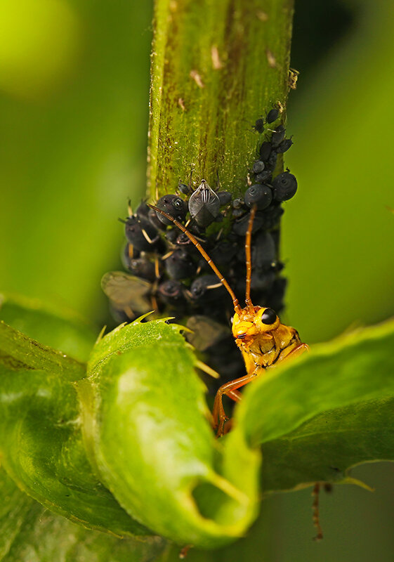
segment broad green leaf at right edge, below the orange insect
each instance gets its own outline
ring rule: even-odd
[[[351,466],[394,460],[394,322],[321,344],[250,384],[228,438],[263,445],[263,488],[346,482]]]

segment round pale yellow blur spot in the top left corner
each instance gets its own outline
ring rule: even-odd
[[[39,99],[77,63],[81,25],[67,0],[0,0],[0,89]]]

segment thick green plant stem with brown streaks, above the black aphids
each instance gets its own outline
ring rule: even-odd
[[[205,178],[233,195],[256,155],[256,119],[285,119],[292,0],[157,0],[148,192]]]

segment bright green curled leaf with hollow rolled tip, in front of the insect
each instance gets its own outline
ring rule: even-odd
[[[88,382],[78,384],[85,437],[131,516],[179,544],[217,547],[255,516],[258,459],[247,485],[226,477],[195,356],[179,330],[136,321],[96,345]]]

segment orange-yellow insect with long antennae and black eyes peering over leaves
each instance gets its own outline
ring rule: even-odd
[[[273,367],[279,362],[301,355],[301,353],[308,349],[308,345],[301,342],[296,329],[280,322],[277,313],[275,313],[272,308],[254,306],[251,302],[251,231],[253,228],[254,216],[256,215],[256,207],[251,209],[245,242],[245,253],[247,256],[247,289],[244,308],[239,306],[238,299],[230,285],[228,285],[228,282],[215,266],[204,248],[202,248],[199,241],[188,229],[169,214],[157,209],[157,207],[153,205],[149,205],[149,207],[166,216],[169,221],[188,236],[192,244],[195,245],[200,254],[202,254],[207,263],[209,263],[209,266],[214,270],[214,273],[216,273],[220,282],[228,290],[232,298],[235,312],[232,320],[232,335],[235,337],[235,343],[241,350],[247,374],[244,375],[244,377],[223,384],[216,393],[212,414],[214,417],[214,428],[218,430],[217,435],[220,437],[223,435],[224,424],[228,419],[223,407],[223,395],[235,400],[235,402],[239,402],[239,400],[241,400],[241,394],[237,390],[238,388],[253,381],[256,377],[260,377],[268,367]]]

